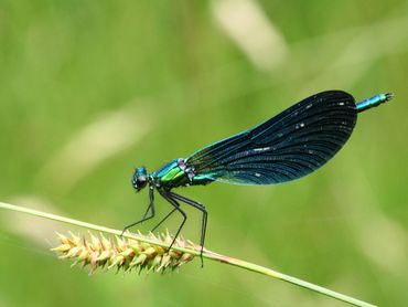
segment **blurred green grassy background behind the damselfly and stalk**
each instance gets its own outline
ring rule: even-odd
[[[2,0],[0,200],[121,229],[148,203],[135,167],[158,169],[320,91],[394,92],[312,176],[179,191],[206,204],[210,250],[407,305],[407,29],[402,0]],[[197,242],[201,216],[185,210],[183,235]],[[88,277],[49,252],[64,229],[0,212],[0,306],[343,306],[210,261]]]

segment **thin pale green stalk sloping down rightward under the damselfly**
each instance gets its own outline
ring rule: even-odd
[[[82,222],[82,221],[78,221],[78,220],[74,220],[74,219],[69,219],[69,218],[65,218],[65,216],[61,216],[61,215],[56,215],[56,214],[51,214],[51,213],[46,213],[46,212],[41,212],[41,211],[37,211],[37,210],[28,209],[28,208],[14,205],[14,204],[0,202],[0,209],[8,209],[8,210],[17,211],[17,212],[23,212],[23,213],[28,213],[28,214],[31,214],[31,215],[35,215],[35,216],[40,216],[40,218],[44,218],[44,219],[49,219],[49,220],[53,220],[53,221],[64,222],[64,223],[68,223],[68,224],[72,224],[72,225],[77,225],[77,226],[86,227],[86,229],[89,229],[89,230],[95,230],[95,231],[98,231],[98,232],[109,233],[109,234],[114,234],[116,236],[121,236],[121,231],[119,231],[119,230],[109,229],[109,227],[105,227],[105,226],[100,226],[100,225],[95,225],[95,224]],[[135,233],[126,232],[126,233],[124,233],[122,237],[126,237],[127,240],[132,240],[132,241],[137,241],[137,242],[151,244],[151,245],[154,245],[154,246],[160,246],[160,247],[168,247],[168,245],[169,245],[165,242],[165,240],[158,240],[158,237],[154,237],[154,236],[151,236],[151,235],[144,236],[144,235],[141,235],[140,233],[135,234]],[[191,246],[193,246],[192,244],[185,245],[185,246],[182,246],[182,245],[183,244],[174,245],[174,246],[172,246],[171,250],[179,251],[181,253],[185,253],[185,254],[193,255],[193,256],[200,256],[200,248],[192,248],[191,247]],[[197,246],[197,245],[195,245],[195,246]],[[200,246],[197,246],[197,247],[200,247]],[[283,280],[283,282],[287,282],[287,283],[290,283],[290,284],[293,284],[293,285],[297,285],[297,286],[300,286],[300,287],[303,287],[303,288],[307,288],[307,289],[310,289],[310,290],[313,290],[313,292],[316,292],[316,293],[320,293],[322,295],[342,300],[344,303],[348,303],[348,304],[354,305],[354,306],[362,306],[362,307],[373,307],[373,306],[375,306],[375,305],[372,305],[369,303],[353,298],[351,296],[346,296],[344,294],[336,293],[336,292],[330,290],[328,288],[308,283],[305,280],[302,280],[302,279],[299,279],[299,278],[296,278],[296,277],[276,272],[271,268],[267,268],[267,267],[254,264],[254,263],[249,263],[249,262],[246,262],[246,261],[233,258],[233,257],[229,257],[229,256],[216,254],[216,253],[211,252],[206,248],[204,248],[203,257],[207,258],[207,260],[211,260],[211,261],[216,261],[216,262],[229,264],[229,265],[233,265],[233,266],[237,266],[237,267],[240,267],[240,268],[244,268],[244,269],[247,269],[247,271],[251,271],[251,272],[255,272],[255,273],[259,273],[259,274],[262,274],[262,275],[267,275],[267,276],[270,276],[270,277],[273,277],[273,278],[277,278],[277,279],[280,279],[280,280]]]

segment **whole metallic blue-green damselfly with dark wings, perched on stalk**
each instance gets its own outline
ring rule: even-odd
[[[187,219],[180,204],[189,204],[203,214],[203,252],[207,211],[203,204],[176,194],[172,189],[213,181],[278,184],[302,178],[325,165],[343,147],[353,133],[358,113],[391,97],[391,94],[379,94],[356,104],[348,93],[322,92],[251,129],[211,144],[185,159],[175,159],[155,172],[147,173],[144,167],[137,168],[132,186],[137,191],[149,187],[150,204],[143,218],[126,229],[154,216],[153,193],[157,190],[173,209],[152,231],[173,212],[179,212],[183,221],[171,247]]]

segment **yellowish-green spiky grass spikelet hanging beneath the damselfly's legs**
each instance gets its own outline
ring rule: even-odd
[[[139,236],[142,236],[140,233]],[[107,239],[101,233],[95,235],[76,235],[68,232],[68,235],[56,234],[61,245],[52,248],[60,254],[61,260],[74,260],[72,266],[80,264],[83,267],[90,266],[89,274],[98,268],[104,271],[116,269],[116,272],[165,273],[174,271],[191,262],[194,255],[175,250],[168,250],[160,245],[146,243],[138,240],[114,236]],[[159,244],[170,245],[172,237],[169,233],[144,235]],[[176,239],[174,246],[196,248],[196,245],[182,237]]]

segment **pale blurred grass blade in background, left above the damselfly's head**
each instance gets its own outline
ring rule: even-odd
[[[136,120],[138,118],[138,120]],[[138,142],[150,129],[144,108],[105,113],[82,127],[45,165],[40,181],[67,191],[109,157]],[[67,176],[69,174],[69,176]]]

